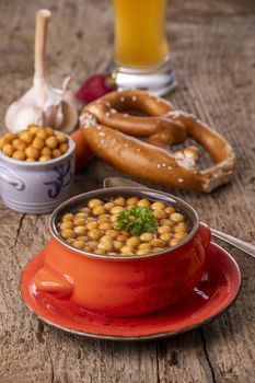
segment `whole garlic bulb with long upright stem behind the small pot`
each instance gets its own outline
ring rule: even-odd
[[[70,78],[63,81],[61,89],[56,89],[49,85],[45,77],[44,58],[49,18],[48,10],[36,12],[33,86],[20,100],[12,103],[5,114],[5,126],[13,134],[26,129],[30,124],[48,125],[70,132],[78,121],[74,100],[67,91]]]

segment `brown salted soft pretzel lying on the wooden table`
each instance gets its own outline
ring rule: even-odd
[[[170,102],[140,90],[112,92],[86,105],[80,128],[102,160],[164,186],[211,192],[230,181],[235,166],[233,149],[220,135],[195,116],[175,111]],[[213,166],[197,169],[200,153],[196,147],[169,150],[187,137],[210,154]]]

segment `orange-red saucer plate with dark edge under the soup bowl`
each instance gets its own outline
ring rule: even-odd
[[[22,274],[21,292],[27,307],[42,321],[65,332],[102,339],[158,339],[199,327],[229,309],[241,288],[237,264],[211,243],[206,251],[205,274],[190,295],[154,314],[107,317],[36,290],[34,275],[43,264],[44,251],[33,257]]]

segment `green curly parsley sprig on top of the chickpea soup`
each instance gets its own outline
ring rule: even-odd
[[[117,217],[117,227],[121,231],[140,235],[152,233],[157,229],[158,221],[149,208],[134,206],[130,210],[123,211]]]

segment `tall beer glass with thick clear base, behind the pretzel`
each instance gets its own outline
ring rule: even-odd
[[[166,0],[113,0],[113,76],[119,89],[163,95],[176,86],[165,36]]]

